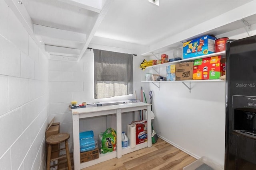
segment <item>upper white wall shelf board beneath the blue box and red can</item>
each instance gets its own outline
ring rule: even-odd
[[[196,59],[204,59],[207,57],[214,57],[214,56],[225,56],[226,55],[226,51],[220,51],[218,53],[212,53],[212,54],[207,54],[207,55],[200,55],[198,57],[192,57],[192,58],[188,58],[188,59],[182,59],[182,60],[178,60],[178,61],[172,61],[172,62],[168,62],[168,63],[163,63],[163,64],[157,64],[157,65],[153,65],[153,66],[147,66],[146,70],[148,69],[152,69],[152,68],[161,68],[161,67],[166,67],[172,64],[176,64],[176,63],[182,63],[185,61],[194,61]]]

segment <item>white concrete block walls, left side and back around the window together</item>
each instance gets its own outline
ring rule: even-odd
[[[114,47],[106,46],[109,44]],[[147,49],[99,37],[94,37],[90,45],[138,55]],[[87,51],[80,62],[48,60],[5,1],[0,1],[0,51],[0,169],[44,169],[48,122],[55,117],[60,131],[70,133],[72,151],[70,101],[99,102],[93,98],[93,51]],[[134,58],[134,72],[141,61],[143,57]],[[134,77],[137,94],[141,76],[144,72]],[[148,84],[144,86],[148,88]],[[80,131],[89,128],[98,134],[107,125],[106,117],[87,119],[80,122]]]

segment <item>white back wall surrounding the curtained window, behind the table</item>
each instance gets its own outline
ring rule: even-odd
[[[140,81],[141,76],[144,76],[144,72],[139,69],[140,63],[143,61],[139,54],[141,53],[141,49],[145,47],[100,37],[94,37],[89,47],[120,53],[137,54],[138,56],[134,57],[134,89],[136,89],[138,98],[140,98]],[[70,148],[72,148],[72,113],[68,109],[68,106],[72,100],[76,100],[78,104],[81,104],[82,102],[94,103],[135,98],[135,94],[133,94],[124,97],[94,99],[93,69],[92,50],[86,50],[86,53],[79,62],[49,60],[50,116],[48,120],[55,117],[54,120],[60,122],[60,132],[70,133]],[[148,84],[144,85],[148,89]],[[127,123],[133,120],[133,117],[123,114],[123,120],[125,121],[124,128],[126,128]],[[113,123],[107,122],[107,119],[108,121],[112,120],[112,118],[107,118],[106,116],[82,119],[80,120],[80,131],[93,130],[94,135],[97,137],[98,133],[105,131]]]

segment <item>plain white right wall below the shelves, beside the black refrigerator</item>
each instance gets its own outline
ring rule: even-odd
[[[256,35],[256,24],[252,25],[250,35]],[[216,37],[241,39],[248,34],[241,28]],[[173,58],[172,51],[166,54]],[[166,68],[161,68],[160,74],[166,76]],[[226,84],[192,82],[191,86],[190,93],[182,82],[160,83],[159,89],[150,83],[156,116],[154,130],[195,158],[207,156],[224,165]]]

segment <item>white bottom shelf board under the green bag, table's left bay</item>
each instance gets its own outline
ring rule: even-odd
[[[94,160],[90,160],[88,162],[81,163],[81,169],[86,168],[88,166],[98,164],[100,162],[104,162],[106,160],[113,159],[113,158],[116,158],[116,151],[105,153],[105,154],[100,154],[99,153],[99,158],[98,159],[94,159]]]

